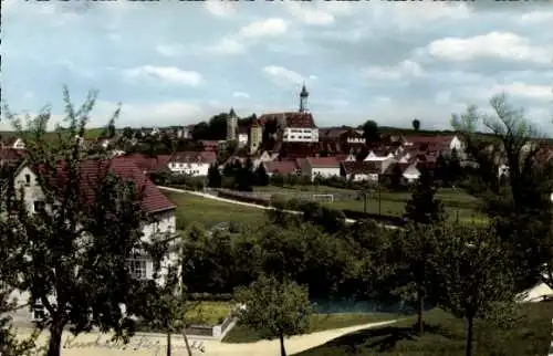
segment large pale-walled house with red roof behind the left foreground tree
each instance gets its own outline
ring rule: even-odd
[[[51,182],[62,187],[66,178],[63,167],[60,166],[59,168],[58,174],[51,177]],[[93,201],[94,190],[100,184],[101,177],[106,171],[112,171],[122,179],[135,182],[137,189],[142,192],[139,208],[147,216],[147,220],[142,222],[142,239],[150,241],[153,238],[159,237],[170,242],[177,237],[175,205],[128,159],[91,159],[83,161],[80,166],[80,174],[82,178],[81,198],[84,201]],[[23,199],[30,213],[34,213],[39,209],[46,207],[43,191],[36,181],[38,172],[40,172],[40,167],[34,168],[29,165],[22,165],[13,176],[15,187],[23,190]],[[127,261],[132,275],[140,280],[152,279],[154,262],[145,253],[137,252],[134,258]],[[163,261],[164,266],[174,263],[176,261],[175,258],[173,254],[167,255]],[[25,301],[29,297],[29,295],[21,292],[17,292],[14,296],[20,301]],[[20,305],[22,306],[22,304]],[[44,313],[41,305],[33,305],[32,313],[27,307],[20,307],[14,313],[14,322],[31,322],[35,318],[36,313]]]

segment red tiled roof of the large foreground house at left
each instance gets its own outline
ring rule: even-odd
[[[140,192],[140,208],[146,213],[175,209],[175,205],[165,197],[152,180],[129,159],[90,159],[80,166],[81,197],[86,203],[94,200],[95,189],[100,185],[100,179],[107,171],[113,172],[121,179],[133,181]],[[66,174],[63,164],[59,166],[53,182],[58,187],[65,186]]]

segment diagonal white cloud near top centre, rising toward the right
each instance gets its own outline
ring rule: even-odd
[[[217,44],[209,45],[207,50],[216,54],[239,54],[263,39],[276,38],[286,31],[288,23],[280,18],[253,21],[242,27],[237,33],[223,36]]]

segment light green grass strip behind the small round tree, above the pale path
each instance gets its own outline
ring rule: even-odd
[[[310,333],[322,332],[367,323],[396,320],[396,314],[387,313],[343,313],[314,314],[310,321]],[[234,326],[222,339],[223,343],[253,343],[262,339],[261,335],[243,325]]]

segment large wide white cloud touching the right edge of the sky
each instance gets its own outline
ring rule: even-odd
[[[427,46],[428,53],[448,61],[484,57],[550,63],[553,46],[532,46],[530,40],[511,32],[490,32],[472,38],[445,38]]]

